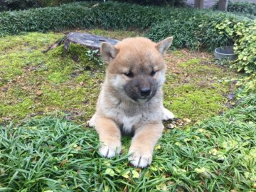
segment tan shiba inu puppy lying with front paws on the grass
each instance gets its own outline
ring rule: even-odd
[[[172,40],[169,37],[154,43],[148,38],[126,38],[115,46],[102,43],[107,70],[96,113],[90,119],[100,137],[102,156],[119,154],[122,133],[134,134],[129,161],[142,168],[151,164],[154,146],[164,129],[162,120],[174,118],[162,99],[163,55]]]

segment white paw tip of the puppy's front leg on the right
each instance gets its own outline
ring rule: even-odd
[[[137,152],[134,152],[133,154],[132,152],[129,152],[129,154],[131,155],[129,156],[128,159],[130,163],[135,167],[144,168],[151,164],[151,161],[152,161],[151,155],[139,154]]]

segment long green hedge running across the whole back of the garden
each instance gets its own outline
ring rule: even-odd
[[[219,11],[171,9],[109,2],[65,4],[58,7],[0,13],[0,36],[23,31],[61,31],[65,28],[147,30],[159,41],[174,36],[176,48],[212,51],[235,43],[238,60],[234,67],[253,74],[256,69],[256,22]]]

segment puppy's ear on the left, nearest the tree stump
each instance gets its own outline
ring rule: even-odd
[[[106,65],[109,65],[118,53],[117,48],[114,48],[114,46],[106,42],[102,43],[100,51],[102,54],[102,59]]]

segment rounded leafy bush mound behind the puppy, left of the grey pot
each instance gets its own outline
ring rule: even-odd
[[[178,10],[168,21],[154,23],[147,36],[154,41],[174,36],[174,47],[213,51],[219,46],[232,45],[235,36],[230,33],[235,23],[246,23],[247,18],[222,12]]]

